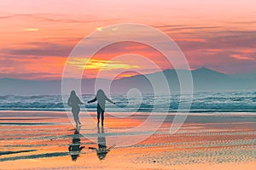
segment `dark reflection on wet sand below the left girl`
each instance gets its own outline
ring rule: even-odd
[[[72,161],[77,161],[80,151],[84,149],[84,146],[80,146],[79,129],[76,129],[73,134],[72,144],[69,145],[68,150],[71,152]]]

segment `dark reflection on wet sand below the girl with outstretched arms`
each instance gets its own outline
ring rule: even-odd
[[[96,149],[94,147],[89,147],[89,149],[96,150],[96,154],[97,154],[98,158],[100,160],[102,160],[107,156],[108,152],[110,151],[111,148],[113,148],[113,146],[111,146],[107,149],[104,127],[102,127],[102,133],[100,132],[99,126],[97,126],[97,129],[98,129],[98,147],[99,147],[99,149]]]

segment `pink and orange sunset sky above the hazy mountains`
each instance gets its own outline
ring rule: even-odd
[[[60,79],[67,56],[85,36],[127,22],[154,26],[172,37],[191,69],[205,66],[226,74],[256,72],[253,0],[2,0],[0,7],[0,78]],[[95,77],[109,58],[131,52],[155,60],[163,70],[172,69],[142,44],[125,43],[123,51],[117,49],[118,44],[96,54],[87,77]],[[147,63],[142,67],[122,60],[111,67],[132,68],[151,71]]]

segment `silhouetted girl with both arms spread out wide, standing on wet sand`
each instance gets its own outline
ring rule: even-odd
[[[98,119],[98,123],[100,122],[100,116],[102,116],[102,126],[104,124],[104,112],[105,112],[105,104],[106,104],[106,100],[112,104],[115,105],[115,103],[111,100],[111,99],[108,99],[108,97],[106,96],[106,94],[103,92],[102,89],[99,89],[97,91],[97,94],[96,94],[96,98],[95,99],[92,99],[90,101],[88,101],[87,103],[92,103],[92,102],[95,102],[95,101],[98,101],[98,105],[97,105],[97,119]]]

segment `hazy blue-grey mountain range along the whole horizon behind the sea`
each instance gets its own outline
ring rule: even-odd
[[[179,75],[186,75],[187,70],[165,70],[154,72],[148,75],[137,75],[133,77],[124,77],[114,80],[111,85],[111,92],[114,94],[126,93],[131,88],[138,88],[143,93],[152,93],[154,85],[150,84],[147,78],[158,83],[160,89],[165,89],[161,75],[166,77],[171,91],[179,90]],[[163,74],[162,74],[163,73]],[[205,67],[191,71],[195,90],[255,90],[256,77],[243,75],[225,75],[218,71],[212,71]],[[82,80],[82,93],[93,94],[95,79]],[[101,79],[102,83],[110,80]],[[163,88],[161,88],[163,86]],[[165,93],[165,91],[161,91]],[[0,95],[39,95],[39,94],[61,94],[61,80],[55,81],[37,81],[37,80],[20,80],[11,78],[0,79]]]

